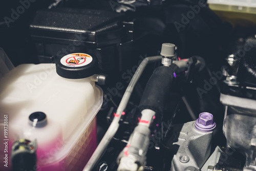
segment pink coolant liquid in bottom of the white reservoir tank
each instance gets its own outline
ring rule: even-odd
[[[8,168],[0,167],[0,170],[11,170],[11,145],[9,142],[9,164]],[[62,141],[61,135],[56,137],[55,141],[48,144],[45,147],[37,147],[37,167],[35,166],[33,170],[28,171],[79,171],[84,168],[86,163],[89,161],[93,152],[97,147],[97,126],[96,117],[92,120],[86,130],[79,137],[75,145],[58,161],[54,161],[54,156],[58,149],[62,145],[67,145]],[[47,151],[46,151],[47,149]],[[46,164],[47,163],[47,164]]]

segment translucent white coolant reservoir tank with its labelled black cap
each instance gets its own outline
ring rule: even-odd
[[[95,57],[75,53],[62,57],[56,67],[20,65],[0,79],[8,168],[36,148],[33,170],[82,170],[97,145],[95,116],[103,95],[91,79],[96,68]]]

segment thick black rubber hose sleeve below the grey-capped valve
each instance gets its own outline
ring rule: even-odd
[[[151,109],[156,113],[162,113],[164,102],[169,94],[170,87],[174,83],[176,74],[173,69],[161,66],[155,69],[146,84],[140,100],[139,109]]]

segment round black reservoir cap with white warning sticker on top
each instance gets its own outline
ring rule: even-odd
[[[98,60],[86,53],[72,53],[56,62],[59,76],[69,79],[81,79],[94,75],[98,69]]]

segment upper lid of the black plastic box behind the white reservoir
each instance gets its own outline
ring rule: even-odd
[[[30,25],[34,38],[54,39],[55,42],[75,40],[91,47],[106,46],[121,41],[124,15],[109,11],[56,8],[37,11]]]

